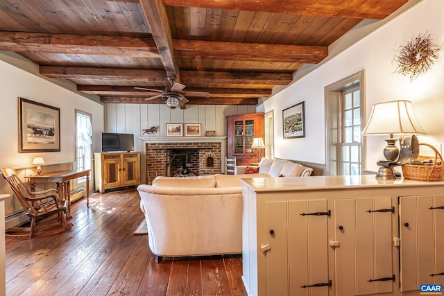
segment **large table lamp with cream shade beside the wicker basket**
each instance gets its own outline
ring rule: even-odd
[[[395,146],[398,139],[393,138],[393,134],[425,134],[425,132],[416,119],[410,101],[390,101],[373,105],[370,117],[361,134],[390,134],[389,138],[385,139],[387,146],[384,148],[384,157],[388,161],[395,162],[400,150]],[[396,179],[393,168],[382,166],[379,167],[376,178],[381,180]]]

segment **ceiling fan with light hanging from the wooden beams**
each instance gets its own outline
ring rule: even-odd
[[[171,82],[172,83],[172,82]],[[147,90],[150,92],[159,92],[160,94],[156,94],[154,96],[150,96],[149,98],[146,98],[145,100],[153,100],[155,98],[164,98],[167,101],[167,106],[171,109],[175,109],[179,105],[179,101],[182,101],[183,103],[188,103],[189,101],[185,96],[200,96],[208,98],[210,97],[209,92],[182,92],[182,89],[185,89],[185,85],[182,85],[182,83],[174,82],[171,88],[165,87],[165,90],[159,90],[159,89],[150,89],[146,87],[134,87],[134,89],[142,89]]]

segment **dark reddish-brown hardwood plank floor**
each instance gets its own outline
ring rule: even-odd
[[[154,262],[135,189],[74,202],[74,227],[6,237],[6,295],[246,295],[240,255]],[[180,243],[180,242],[177,242]]]

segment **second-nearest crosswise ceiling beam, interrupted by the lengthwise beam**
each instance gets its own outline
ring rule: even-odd
[[[318,63],[327,46],[172,40],[177,58]],[[0,32],[0,50],[160,58],[153,38]]]

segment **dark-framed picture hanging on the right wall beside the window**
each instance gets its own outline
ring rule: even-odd
[[[284,139],[305,137],[304,103],[298,103],[282,110]]]

